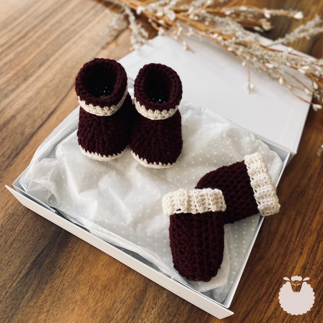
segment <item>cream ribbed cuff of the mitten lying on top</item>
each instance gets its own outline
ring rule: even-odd
[[[217,212],[226,209],[222,191],[211,188],[191,191],[181,188],[163,196],[161,204],[164,214],[167,216],[178,213]]]

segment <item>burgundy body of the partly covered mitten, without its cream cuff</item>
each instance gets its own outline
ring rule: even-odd
[[[222,166],[207,173],[195,188],[209,187],[217,188],[223,193],[226,204],[226,210],[221,212],[224,224],[234,223],[259,213],[244,161],[238,161],[230,166]]]

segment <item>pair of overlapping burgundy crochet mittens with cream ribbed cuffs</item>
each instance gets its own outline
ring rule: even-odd
[[[192,191],[178,190],[162,199],[170,216],[174,268],[188,280],[207,282],[223,260],[225,223],[279,211],[276,186],[259,153],[204,175]]]

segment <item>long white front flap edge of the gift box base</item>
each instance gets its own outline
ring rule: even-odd
[[[28,209],[36,212],[37,214],[43,216],[45,219],[53,222],[54,224],[60,226],[61,228],[65,229],[66,231],[70,232],[71,234],[76,235],[80,239],[88,242],[90,245],[100,249],[104,253],[110,255],[111,257],[119,260],[123,264],[129,266],[133,270],[137,271],[141,275],[149,278],[153,282],[161,285],[162,287],[168,289],[172,293],[182,297],[183,299],[187,300],[188,302],[192,303],[193,305],[203,309],[204,311],[208,312],[209,314],[215,316],[216,318],[222,319],[226,318],[232,314],[232,311],[228,310],[227,308],[219,305],[218,303],[212,301],[211,299],[203,296],[200,294],[174,280],[171,278],[161,274],[157,270],[141,263],[139,260],[127,255],[120,249],[110,245],[109,243],[103,241],[102,239],[96,237],[95,235],[82,230],[77,225],[68,220],[60,217],[59,215],[50,212],[43,206],[37,204],[36,202],[30,200],[28,197],[22,195],[21,193],[15,191],[14,189],[5,185],[5,187],[9,190],[14,197]]]

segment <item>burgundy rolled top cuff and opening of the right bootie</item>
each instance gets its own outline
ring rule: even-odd
[[[140,69],[135,80],[134,97],[146,110],[169,111],[182,99],[182,82],[172,68],[147,64]]]

